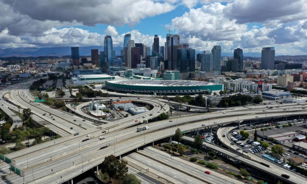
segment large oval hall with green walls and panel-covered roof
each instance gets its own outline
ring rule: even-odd
[[[219,93],[223,84],[202,81],[174,80],[122,80],[106,81],[106,88],[112,91],[138,94],[184,95]]]

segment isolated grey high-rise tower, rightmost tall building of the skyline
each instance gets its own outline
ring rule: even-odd
[[[261,51],[261,69],[274,70],[275,47],[263,47]]]

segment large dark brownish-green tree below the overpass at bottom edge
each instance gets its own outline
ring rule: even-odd
[[[127,172],[127,161],[116,159],[114,155],[106,156],[102,163],[102,171],[109,174],[110,178],[123,179]]]

